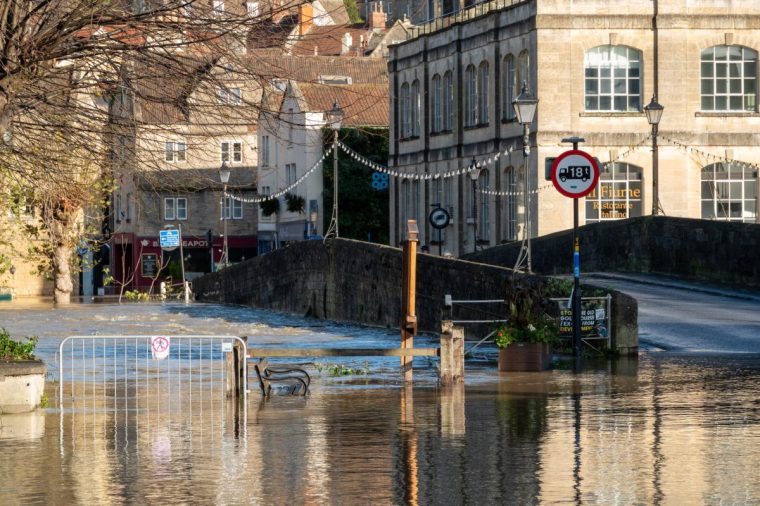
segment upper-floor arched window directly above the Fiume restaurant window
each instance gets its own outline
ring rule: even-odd
[[[627,46],[586,51],[587,111],[641,111],[641,52]]]

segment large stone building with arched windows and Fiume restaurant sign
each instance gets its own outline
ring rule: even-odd
[[[545,179],[572,136],[602,163],[581,224],[652,212],[653,97],[660,212],[756,222],[758,28],[750,0],[631,0],[624,12],[500,0],[418,27],[389,55],[391,243],[416,218],[435,244],[434,204],[452,216],[442,249],[455,255],[519,240],[526,223],[529,236],[572,227],[572,200]],[[523,83],[539,100],[527,157],[511,105]]]

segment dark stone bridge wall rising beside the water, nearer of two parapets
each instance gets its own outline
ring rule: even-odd
[[[511,273],[494,265],[418,255],[419,329],[440,331],[447,294],[455,300],[503,299]],[[198,278],[193,292],[202,301],[398,328],[401,279],[400,249],[346,239],[304,241]],[[618,347],[635,352],[636,301],[620,293],[613,297],[613,333],[616,327],[622,332]]]

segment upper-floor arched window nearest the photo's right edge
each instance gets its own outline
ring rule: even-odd
[[[703,111],[757,110],[757,51],[713,46],[700,59]]]

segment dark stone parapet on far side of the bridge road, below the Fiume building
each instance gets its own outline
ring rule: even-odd
[[[646,216],[586,225],[579,236],[581,273],[652,273],[760,288],[760,225]],[[465,258],[512,266],[519,249],[506,244]],[[534,239],[531,249],[535,272],[572,272],[572,230]]]

